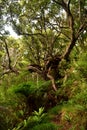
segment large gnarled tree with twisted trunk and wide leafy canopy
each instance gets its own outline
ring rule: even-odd
[[[69,63],[80,40],[85,44],[86,0],[8,0],[6,7],[8,23],[28,47],[28,70],[50,79],[56,91],[55,81],[64,76],[60,73],[62,61]]]

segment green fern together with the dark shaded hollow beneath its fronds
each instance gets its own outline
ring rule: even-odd
[[[26,106],[31,113],[34,110],[38,110],[41,106],[46,106],[48,99],[46,99],[44,95],[47,95],[47,92],[49,91],[49,84],[49,81],[44,82],[41,80],[38,81],[38,83],[33,81],[24,82],[14,86],[10,91],[19,95],[19,98],[21,95],[26,98]]]

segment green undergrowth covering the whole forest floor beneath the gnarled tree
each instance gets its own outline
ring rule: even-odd
[[[85,55],[82,57],[85,57]],[[84,64],[85,58],[83,58]],[[37,82],[36,77],[34,79],[29,77],[30,74],[28,75],[23,72],[14,79],[12,79],[13,75],[10,75],[9,78],[5,76],[2,84],[3,88],[0,88],[0,104],[5,107],[8,106],[13,115],[2,113],[1,116],[7,118],[6,120],[5,118],[0,118],[2,121],[4,119],[4,122],[1,121],[1,127],[6,125],[11,130],[57,130],[61,128],[56,127],[52,122],[57,116],[59,125],[61,124],[66,127],[66,124],[70,123],[71,129],[79,128],[85,130],[87,122],[87,80],[86,74],[82,75],[82,71],[79,70],[79,63],[80,60],[72,62],[69,66],[67,65],[68,69],[65,68],[65,73],[68,74],[67,79],[59,80],[58,84],[60,82],[61,84],[56,93],[50,90],[49,81],[44,82],[38,78]],[[66,65],[65,62],[61,64]],[[64,68],[62,69],[64,70]],[[50,110],[46,110],[47,113],[45,113],[43,106],[48,103],[48,97],[45,97],[48,93],[57,96],[57,104],[55,107],[51,107]],[[67,101],[66,97],[68,98]],[[34,105],[31,113],[29,113],[30,100],[31,106]]]

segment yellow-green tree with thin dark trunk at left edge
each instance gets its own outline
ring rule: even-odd
[[[20,39],[14,39],[10,36],[2,36],[0,39],[0,76],[5,74],[19,74],[24,61],[24,49],[20,44]]]

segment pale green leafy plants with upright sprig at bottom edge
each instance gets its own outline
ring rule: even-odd
[[[49,123],[47,114],[44,113],[44,108],[39,108],[39,111],[34,111],[33,115],[27,120],[24,120],[21,124],[18,124],[17,128],[13,130],[57,130],[57,126],[53,123]]]

